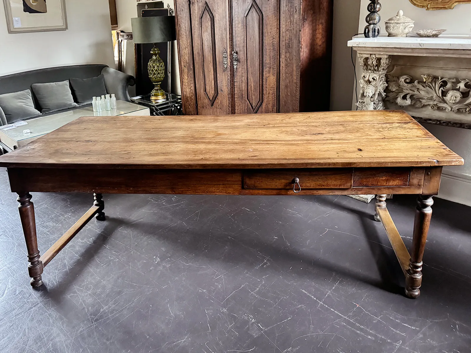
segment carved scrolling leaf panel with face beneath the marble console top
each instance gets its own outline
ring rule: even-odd
[[[388,75],[386,101],[400,107],[413,105],[454,113],[471,114],[471,81],[422,75],[422,81],[409,75]]]

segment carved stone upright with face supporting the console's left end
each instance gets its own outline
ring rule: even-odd
[[[391,63],[389,55],[359,54],[363,68],[360,80],[360,96],[357,107],[360,110],[383,110],[384,90],[387,87],[386,72]]]

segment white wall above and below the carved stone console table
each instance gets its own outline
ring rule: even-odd
[[[358,32],[362,32],[366,25],[368,3],[368,0],[361,0]],[[415,7],[409,0],[382,1],[380,12],[382,33],[386,33],[384,21],[395,16],[398,10],[403,10],[404,16],[415,20],[414,29],[446,28],[447,34],[471,34],[471,4],[456,5],[453,10],[427,11],[424,8]],[[358,66],[357,73],[361,72]],[[439,197],[471,206],[471,130],[423,125],[464,158],[464,166],[444,168]]]

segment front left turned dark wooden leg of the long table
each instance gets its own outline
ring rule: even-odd
[[[18,210],[23,227],[24,240],[26,241],[26,249],[28,249],[28,273],[32,278],[30,283],[32,287],[39,287],[42,285],[41,274],[43,265],[39,259],[36,220],[34,219],[34,206],[31,198],[32,196],[29,193],[18,193],[17,201],[20,203]]]

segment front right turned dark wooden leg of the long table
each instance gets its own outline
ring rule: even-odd
[[[417,298],[420,296],[422,285],[422,257],[429,232],[432,217],[432,196],[420,195],[417,199],[417,210],[414,220],[414,238],[409,269],[406,272],[406,296]]]

